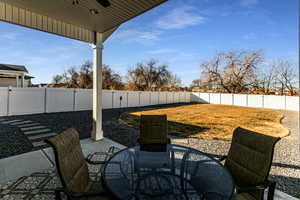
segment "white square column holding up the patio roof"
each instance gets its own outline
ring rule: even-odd
[[[93,131],[92,139],[103,138],[102,131],[102,35],[97,34],[93,48]]]

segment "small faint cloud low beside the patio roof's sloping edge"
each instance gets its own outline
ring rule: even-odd
[[[116,32],[113,39],[122,42],[139,42],[149,43],[159,40],[160,32],[158,31],[139,31],[135,29],[127,29]]]

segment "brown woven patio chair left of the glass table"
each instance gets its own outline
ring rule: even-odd
[[[92,160],[95,154],[85,158],[81,150],[78,132],[73,128],[47,139],[46,142],[53,147],[57,172],[63,186],[63,188],[55,190],[56,199],[61,199],[61,193],[64,193],[68,200],[111,199],[104,191],[101,182],[91,181],[87,165],[87,163],[104,164],[111,155],[109,152],[98,152],[97,154],[104,155],[104,159],[100,161]]]

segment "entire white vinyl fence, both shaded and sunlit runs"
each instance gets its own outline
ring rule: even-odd
[[[0,116],[92,110],[92,90],[0,87]],[[121,100],[120,100],[121,99]],[[299,97],[103,90],[103,109],[201,102],[299,111]]]

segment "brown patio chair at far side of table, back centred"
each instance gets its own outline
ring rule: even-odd
[[[141,115],[140,144],[142,151],[163,152],[170,143],[167,115]]]

